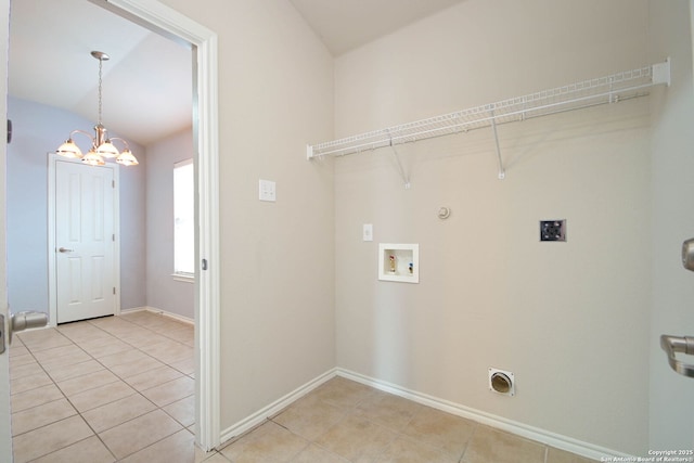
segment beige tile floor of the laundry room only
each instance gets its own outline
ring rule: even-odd
[[[209,463],[589,463],[523,439],[335,377]]]

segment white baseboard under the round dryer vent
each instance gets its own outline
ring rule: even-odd
[[[481,410],[476,410],[470,407],[462,406],[460,403],[439,399],[438,397],[433,397],[426,394],[417,393],[415,390],[407,389],[396,384],[375,380],[373,377],[369,377],[349,370],[337,368],[335,369],[335,373],[337,376],[356,381],[358,383],[365,384],[367,386],[375,387],[376,389],[412,400],[423,406],[432,407],[437,410],[462,416],[464,419],[472,420],[477,423],[481,423],[497,429],[505,430],[516,436],[525,437],[526,439],[535,440],[537,442],[544,443],[560,450],[565,450],[567,452],[576,453],[578,455],[586,456],[592,460],[607,461],[606,459],[611,459],[612,461],[612,459],[614,459],[615,456],[634,459],[633,455],[627,453],[621,453],[616,450],[611,450],[589,442],[583,442],[581,440],[562,436],[561,434],[552,433],[539,427],[529,426],[527,424],[518,423],[513,420],[507,420],[502,416],[484,412]]]

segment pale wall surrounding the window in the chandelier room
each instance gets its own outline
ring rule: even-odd
[[[146,305],[194,319],[194,284],[175,281],[174,164],[193,157],[191,129],[147,146]]]

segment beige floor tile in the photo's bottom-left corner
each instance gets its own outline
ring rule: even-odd
[[[12,438],[14,461],[28,462],[92,435],[80,416],[70,416]]]

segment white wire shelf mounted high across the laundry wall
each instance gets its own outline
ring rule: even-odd
[[[307,158],[311,159],[329,155],[344,156],[492,127],[494,141],[497,142],[497,155],[499,156],[499,177],[503,178],[504,172],[499,151],[497,125],[644,97],[648,94],[646,89],[656,85],[670,85],[669,59],[665,63],[583,80],[497,103],[457,111],[339,140],[309,144],[307,145]]]

